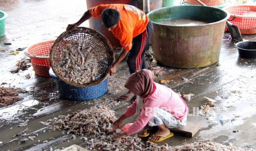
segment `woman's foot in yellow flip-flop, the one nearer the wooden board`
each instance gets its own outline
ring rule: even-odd
[[[149,137],[151,142],[161,142],[173,136],[173,133],[163,124],[158,126],[159,130]]]

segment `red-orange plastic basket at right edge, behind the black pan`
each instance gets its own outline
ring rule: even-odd
[[[230,13],[230,22],[237,25],[242,34],[256,33],[256,5],[234,5],[225,8]],[[246,16],[244,13],[254,11],[255,15]]]

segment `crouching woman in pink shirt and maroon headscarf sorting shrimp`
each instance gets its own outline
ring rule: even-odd
[[[115,135],[120,138],[139,132],[140,137],[150,135],[151,127],[159,130],[149,137],[149,141],[161,142],[173,136],[169,129],[185,126],[187,123],[187,104],[170,88],[153,81],[154,74],[148,69],[141,69],[131,74],[124,87],[137,95],[136,101],[118,118],[114,126],[121,127],[123,120],[138,114],[137,120],[124,132]]]

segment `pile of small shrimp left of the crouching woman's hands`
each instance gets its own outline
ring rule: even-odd
[[[52,131],[63,130],[63,134],[75,135],[102,135],[112,131],[111,124],[116,120],[115,112],[105,106],[91,107],[68,115],[59,115],[57,118],[41,122],[49,125]]]

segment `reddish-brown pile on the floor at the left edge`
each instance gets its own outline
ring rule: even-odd
[[[17,101],[23,100],[22,97],[18,96],[21,93],[26,93],[26,91],[15,88],[0,87],[0,107],[8,106]]]

